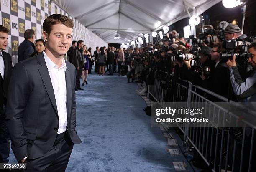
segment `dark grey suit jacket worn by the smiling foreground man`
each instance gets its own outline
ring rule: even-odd
[[[74,144],[82,143],[76,134],[74,65],[66,61],[67,133]],[[13,68],[8,90],[6,119],[12,149],[19,161],[46,154],[54,145],[59,117],[51,78],[44,54],[28,58]]]

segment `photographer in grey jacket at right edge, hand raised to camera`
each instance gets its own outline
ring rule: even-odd
[[[249,78],[246,78],[245,82],[238,72],[236,55],[233,56],[232,61],[227,61],[227,65],[230,67],[230,79],[233,91],[238,99],[246,99],[246,102],[256,102],[256,43],[253,43],[249,47],[249,52],[251,53],[251,57],[248,59],[248,62],[254,71]]]

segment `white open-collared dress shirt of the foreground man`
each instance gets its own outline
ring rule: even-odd
[[[44,60],[46,62],[46,66],[49,71],[49,75],[51,78],[51,83],[54,89],[54,96],[56,100],[56,105],[58,109],[59,116],[59,129],[58,134],[66,131],[67,127],[67,107],[66,107],[66,78],[65,72],[67,69],[66,62],[64,58],[62,58],[61,67],[58,69],[58,66],[51,61],[51,59],[44,52]]]

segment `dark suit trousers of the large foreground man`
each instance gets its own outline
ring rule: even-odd
[[[73,145],[66,132],[58,134],[53,147],[43,157],[25,160],[24,172],[65,172]]]

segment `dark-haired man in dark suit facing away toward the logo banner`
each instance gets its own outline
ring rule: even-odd
[[[35,51],[35,32],[33,29],[28,29],[24,33],[25,40],[19,45],[18,48],[18,61],[23,61],[30,57]]]

